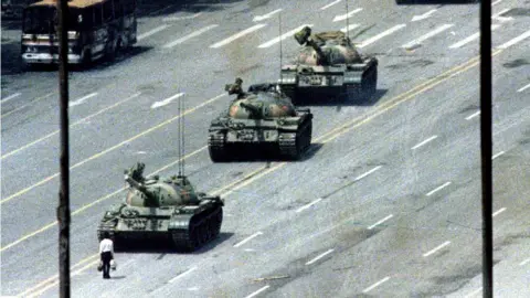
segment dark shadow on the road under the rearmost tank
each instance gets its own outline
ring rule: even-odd
[[[329,96],[324,94],[303,94],[299,95],[299,99],[296,102],[298,107],[307,106],[373,106],[375,105],[385,94],[388,89],[378,89],[369,98],[359,98],[353,95],[349,96],[347,94],[339,94],[337,96]],[[301,97],[301,98],[300,98]]]

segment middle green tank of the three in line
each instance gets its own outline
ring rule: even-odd
[[[277,84],[256,84],[243,92],[242,83],[237,78],[225,86],[236,97],[210,125],[211,160],[227,161],[250,151],[258,157],[299,159],[311,143],[309,108],[296,108]]]

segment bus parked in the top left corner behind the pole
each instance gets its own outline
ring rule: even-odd
[[[114,60],[136,43],[136,0],[68,0],[68,64]],[[57,0],[41,0],[22,13],[21,55],[26,66],[59,63]]]

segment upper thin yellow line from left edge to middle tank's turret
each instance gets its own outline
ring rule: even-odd
[[[202,103],[202,104],[200,104],[200,105],[197,105],[197,106],[194,106],[194,107],[192,107],[192,108],[190,108],[190,109],[187,109],[187,110],[184,110],[184,111],[183,111],[182,114],[180,114],[180,115],[177,115],[177,116],[174,116],[174,117],[172,117],[172,118],[170,118],[170,119],[167,119],[167,120],[165,120],[165,121],[162,121],[162,123],[160,123],[160,124],[158,124],[158,125],[156,125],[156,126],[153,126],[153,127],[151,127],[151,128],[149,128],[149,129],[147,129],[147,130],[141,131],[140,134],[138,134],[138,135],[136,135],[136,136],[134,136],[134,137],[131,137],[131,138],[129,138],[129,139],[127,139],[127,140],[124,140],[124,141],[121,141],[121,142],[119,142],[118,145],[115,145],[115,146],[113,146],[113,147],[110,147],[110,148],[107,148],[107,149],[100,151],[99,153],[96,153],[96,155],[94,155],[94,156],[92,156],[92,157],[89,157],[89,158],[87,158],[87,159],[85,159],[85,160],[82,160],[82,161],[75,163],[74,166],[70,167],[70,170],[72,171],[73,169],[78,168],[78,167],[87,163],[88,161],[92,161],[92,160],[94,160],[94,159],[97,159],[97,158],[99,158],[99,157],[102,157],[102,156],[104,156],[104,155],[106,155],[106,153],[108,153],[108,152],[112,152],[112,151],[114,151],[114,150],[116,150],[116,149],[118,149],[118,148],[120,148],[120,147],[123,147],[123,146],[125,146],[125,145],[127,145],[127,143],[129,143],[129,142],[138,139],[138,138],[140,138],[140,137],[142,137],[142,136],[146,136],[146,135],[148,135],[148,134],[150,134],[150,132],[152,132],[152,131],[155,131],[155,130],[157,130],[157,129],[160,129],[160,128],[162,128],[162,127],[165,127],[165,126],[173,123],[174,120],[180,119],[182,116],[186,116],[186,115],[188,115],[188,114],[190,114],[190,113],[193,113],[193,111],[195,111],[197,109],[199,109],[199,108],[201,108],[201,107],[204,107],[204,106],[206,106],[206,105],[209,105],[209,104],[218,100],[219,98],[221,98],[221,97],[223,97],[223,96],[225,96],[225,94],[220,94],[220,95],[218,95],[218,96],[215,96],[215,97],[213,97],[213,98],[211,98],[211,99],[209,99],[209,100],[206,100],[206,102],[204,102],[204,103]],[[13,193],[13,194],[9,195],[9,196],[6,198],[6,199],[2,199],[2,200],[0,201],[0,203],[3,204],[3,203],[6,203],[6,202],[8,202],[8,201],[10,201],[10,200],[12,200],[12,199],[14,199],[14,198],[17,198],[17,196],[20,196],[20,195],[22,195],[22,194],[31,191],[32,189],[38,188],[38,187],[40,187],[40,185],[42,185],[42,184],[44,184],[44,183],[46,183],[46,182],[49,182],[49,181],[57,178],[57,177],[59,177],[59,172],[57,172],[57,173],[54,173],[54,174],[52,174],[52,175],[50,175],[50,177],[46,177],[46,178],[44,178],[43,180],[36,182],[35,184],[33,184],[33,185],[31,185],[31,187],[28,187],[28,188],[25,188],[25,189],[23,189],[23,190],[20,190],[20,191],[18,191],[17,193]]]

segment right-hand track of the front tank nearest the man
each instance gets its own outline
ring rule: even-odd
[[[216,238],[223,222],[223,209],[218,206],[208,215],[199,214],[193,217],[188,230],[171,231],[171,241],[179,252],[193,252],[210,241]]]

